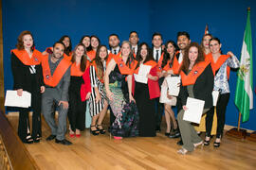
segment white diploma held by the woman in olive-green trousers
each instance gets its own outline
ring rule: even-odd
[[[188,110],[185,110],[183,115],[183,120],[200,124],[204,106],[205,106],[204,100],[188,97],[187,104],[186,104],[186,107],[188,108]]]

